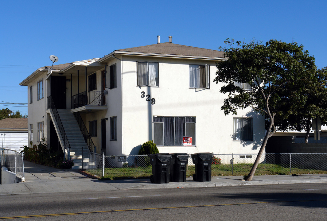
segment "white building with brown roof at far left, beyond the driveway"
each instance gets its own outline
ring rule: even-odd
[[[27,118],[0,120],[1,147],[22,151],[28,144],[27,133]]]

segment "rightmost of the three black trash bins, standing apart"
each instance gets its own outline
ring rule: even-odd
[[[195,153],[191,156],[195,169],[195,174],[193,174],[193,180],[199,182],[211,181],[211,164],[213,154]]]

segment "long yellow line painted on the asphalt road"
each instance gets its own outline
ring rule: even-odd
[[[309,201],[327,201],[327,199],[231,203],[231,204],[198,205],[198,206],[177,206],[177,207],[160,207],[160,208],[143,208],[143,209],[126,209],[126,210],[106,210],[106,211],[78,212],[78,213],[56,213],[56,214],[43,214],[43,215],[8,216],[8,217],[0,217],[0,219],[34,218],[34,217],[45,217],[45,216],[78,215],[78,214],[86,214],[86,213],[110,213],[110,212],[125,212],[125,211],[138,211],[138,210],[179,209],[179,208],[194,208],[194,207],[209,207],[209,206],[233,206],[233,205],[247,205],[247,204],[260,204],[260,203],[309,202]]]

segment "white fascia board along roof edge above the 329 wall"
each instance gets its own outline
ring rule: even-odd
[[[198,59],[198,60],[228,60],[227,58],[190,56],[190,55],[168,55],[168,54],[140,53],[140,52],[129,52],[129,51],[114,51],[114,52],[117,55],[133,55],[133,56],[147,56],[147,57],[161,57],[161,58],[180,58],[180,59]]]

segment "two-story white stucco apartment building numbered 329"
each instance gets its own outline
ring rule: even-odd
[[[213,83],[217,60],[226,60],[223,52],[165,42],[39,68],[20,83],[28,86],[29,140],[44,137],[75,154],[88,146],[136,155],[148,140],[164,153],[257,153],[264,117],[250,108],[224,115],[226,95]],[[77,121],[88,131],[86,142]],[[183,136],[192,146],[182,145]]]

